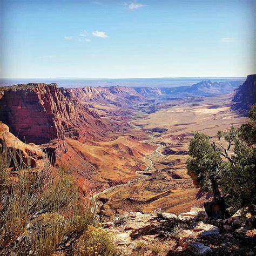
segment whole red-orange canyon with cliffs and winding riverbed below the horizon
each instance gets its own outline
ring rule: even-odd
[[[32,167],[48,156],[69,169],[80,191],[98,200],[103,219],[157,208],[180,214],[212,196],[186,174],[188,143],[197,131],[215,138],[247,122],[255,75],[241,84],[0,87],[0,142]]]

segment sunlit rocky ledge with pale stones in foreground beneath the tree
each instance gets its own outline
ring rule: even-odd
[[[254,255],[255,216],[210,219],[203,208],[179,216],[160,210],[117,215],[103,226],[121,255]]]

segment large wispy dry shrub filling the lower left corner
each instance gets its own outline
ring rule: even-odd
[[[16,156],[2,146],[0,254],[69,251],[89,227],[97,224],[96,205],[92,200],[82,203],[76,181],[66,170],[56,169],[53,177],[47,159],[43,170],[38,170],[31,168],[29,161],[19,163],[22,158]],[[15,176],[9,173],[10,163],[16,166]],[[91,235],[91,243],[93,239]]]

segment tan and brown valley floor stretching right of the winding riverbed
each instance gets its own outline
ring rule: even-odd
[[[104,218],[131,211],[150,213],[157,208],[179,214],[211,200],[211,194],[200,193],[186,174],[188,144],[195,132],[215,138],[218,130],[245,123],[247,118],[231,111],[231,104],[230,96],[224,95],[137,105],[140,112],[130,122],[133,132],[144,131],[149,138],[143,142],[157,150],[144,157],[147,167],[138,170],[136,177],[96,195],[103,202]],[[154,111],[145,114],[149,109]]]

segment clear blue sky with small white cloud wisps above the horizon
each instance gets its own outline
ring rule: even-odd
[[[0,77],[244,77],[255,1],[1,0]]]

